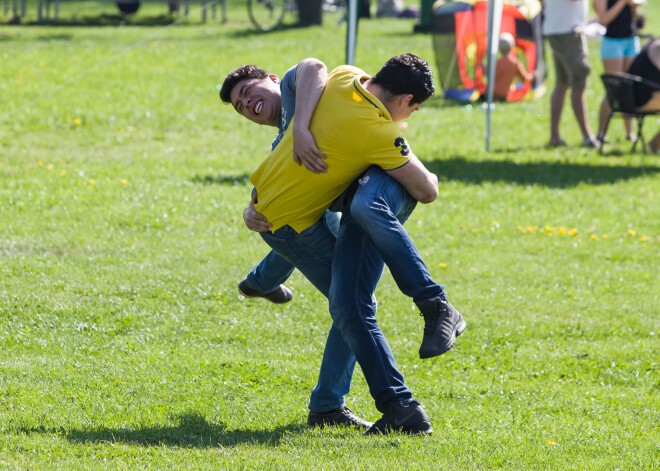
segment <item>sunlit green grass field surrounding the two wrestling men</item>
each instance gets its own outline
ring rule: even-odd
[[[186,22],[147,4],[126,27],[109,3],[63,3],[51,26],[33,3],[22,26],[0,16],[0,469],[660,468],[660,157],[629,154],[618,119],[612,153],[580,148],[568,107],[571,147],[547,149],[547,95],[497,106],[490,153],[478,107],[435,97],[409,120],[441,183],[407,228],[468,330],[421,361],[422,319],[387,272],[377,297],[434,435],[306,427],[327,304],[297,273],[288,305],[238,297],[267,252],[241,213],[274,129],[216,84],[241,63],[332,68],[345,30],[326,15],[258,34],[229,7],[226,24],[198,5]],[[412,29],[362,21],[357,65],[435,67]],[[347,400],[379,417],[359,371]]]

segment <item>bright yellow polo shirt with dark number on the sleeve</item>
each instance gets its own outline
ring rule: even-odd
[[[310,122],[316,145],[327,156],[327,173],[313,173],[293,161],[291,123],[279,145],[250,176],[257,189],[255,209],[273,225],[271,230],[288,224],[304,231],[371,165],[392,170],[410,159],[401,129],[362,86],[369,78],[352,66],[338,67],[328,75]]]

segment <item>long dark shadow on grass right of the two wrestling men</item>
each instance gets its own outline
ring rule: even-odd
[[[455,180],[468,184],[506,182],[551,188],[571,188],[580,183],[605,185],[660,173],[660,167],[580,165],[565,162],[518,163],[503,160],[468,161],[462,157],[426,161],[424,165],[441,180]]]

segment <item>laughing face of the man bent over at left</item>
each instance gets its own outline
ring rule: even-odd
[[[282,103],[278,83],[275,75],[265,79],[241,80],[234,86],[229,98],[234,109],[250,121],[277,126]]]

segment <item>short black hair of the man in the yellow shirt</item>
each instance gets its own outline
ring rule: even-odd
[[[435,93],[428,62],[411,53],[392,57],[371,81],[392,95],[411,94],[411,105],[423,103]]]

